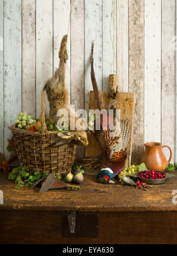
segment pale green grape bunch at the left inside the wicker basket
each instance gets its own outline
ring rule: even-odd
[[[15,123],[19,129],[27,129],[32,127],[36,121],[34,120],[34,116],[20,112],[18,118],[15,120]]]

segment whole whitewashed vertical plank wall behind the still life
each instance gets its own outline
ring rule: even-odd
[[[41,90],[58,67],[60,41],[69,29],[71,103],[88,110],[94,40],[99,89],[107,90],[109,74],[117,72],[119,89],[136,93],[132,161],[140,160],[144,142],[161,141],[172,148],[172,163],[177,162],[176,5],[175,0],[1,1],[0,151],[8,155],[8,127],[18,112],[40,116]],[[83,154],[79,148],[77,157]]]

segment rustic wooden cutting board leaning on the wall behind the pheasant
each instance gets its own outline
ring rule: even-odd
[[[103,108],[108,111],[112,105],[112,98],[109,92],[100,92],[100,98],[103,102]],[[127,144],[127,161],[126,166],[131,164],[132,155],[132,132],[133,132],[133,110],[135,103],[135,94],[132,92],[118,92],[116,95],[116,109],[120,109],[120,118],[127,120],[130,127],[130,138]],[[90,91],[89,109],[96,109],[93,90]],[[102,151],[94,135],[89,135],[89,145],[86,147],[86,157],[101,155]]]

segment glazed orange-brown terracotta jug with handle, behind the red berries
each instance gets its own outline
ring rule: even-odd
[[[169,160],[166,160],[165,155],[163,155],[162,149],[169,148],[171,153]],[[142,156],[141,163],[145,163],[148,170],[153,169],[156,171],[164,171],[166,166],[170,163],[172,159],[172,150],[169,146],[163,145],[159,142],[148,142],[145,143],[145,153]]]

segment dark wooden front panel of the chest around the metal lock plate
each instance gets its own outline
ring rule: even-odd
[[[63,215],[46,210],[1,210],[0,244],[177,243],[176,211],[97,212],[99,233],[94,238],[64,237]]]

